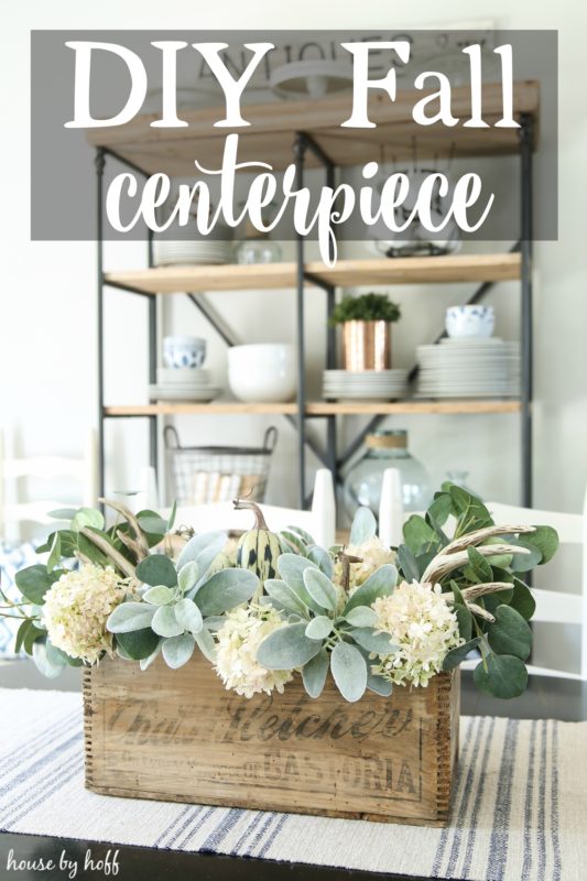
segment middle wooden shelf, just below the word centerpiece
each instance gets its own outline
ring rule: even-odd
[[[501,282],[520,278],[519,253],[399,257],[374,260],[339,260],[306,263],[308,275],[336,286],[362,284],[424,284],[449,282]],[[106,283],[144,294],[203,293],[208,291],[260,291],[294,287],[295,263],[225,267],[159,267],[109,272]],[[309,284],[311,282],[308,282]]]

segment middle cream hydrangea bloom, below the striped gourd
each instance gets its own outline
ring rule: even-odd
[[[290,670],[265,670],[257,662],[257,650],[274,630],[284,627],[276,609],[263,607],[257,612],[248,608],[228,612],[226,622],[216,634],[216,672],[227,688],[238,695],[252,697],[275,688],[280,694],[293,679]]]

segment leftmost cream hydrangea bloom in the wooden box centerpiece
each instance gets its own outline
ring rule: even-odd
[[[43,606],[53,645],[88,664],[95,664],[102,652],[111,654],[112,634],[106,621],[128,590],[111,566],[102,569],[86,563],[62,575],[45,594]]]

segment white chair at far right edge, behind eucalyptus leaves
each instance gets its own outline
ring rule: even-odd
[[[515,523],[521,526],[553,526],[558,533],[561,544],[581,546],[580,594],[568,594],[559,590],[535,590],[532,588],[532,594],[536,600],[533,621],[543,621],[551,624],[580,624],[580,673],[567,673],[566,671],[532,665],[529,666],[529,671],[543,676],[587,679],[587,492],[585,494],[583,514],[539,511],[498,502],[488,502],[487,507],[491,511],[496,523]]]

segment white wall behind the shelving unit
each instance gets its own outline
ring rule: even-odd
[[[124,3],[102,0],[99,6],[74,0],[46,4],[41,0],[12,4],[4,10],[0,78],[3,108],[2,168],[2,320],[0,341],[1,418],[19,426],[25,452],[77,453],[89,423],[96,417],[95,248],[91,243],[37,243],[29,241],[29,31],[31,29],[171,29],[171,28],[407,28],[438,22],[438,4],[421,0],[410,9],[388,0],[360,4],[297,0],[294,4],[250,0],[222,0],[194,4],[167,0],[164,6],[144,0]],[[559,239],[535,249],[535,503],[565,511],[580,509],[587,480],[587,116],[584,48],[586,13],[574,0],[537,4],[534,0],[493,0],[477,3],[475,12],[465,0],[446,0],[442,20],[470,21],[491,17],[504,29],[557,29],[559,31]],[[548,149],[544,144],[543,149]],[[540,186],[540,157],[536,185]],[[58,210],[58,206],[56,206]],[[109,249],[109,265],[133,265],[137,248]],[[398,291],[405,317],[395,338],[396,363],[411,365],[414,346],[442,323],[444,307],[457,296],[450,287]],[[515,286],[501,285],[493,296],[499,309],[498,331],[517,331]],[[263,298],[261,298],[263,297]],[[265,339],[271,327],[275,339],[293,338],[293,296],[289,293],[218,294],[215,303],[230,314],[251,340]],[[260,312],[260,304],[263,312]],[[131,297],[109,295],[111,316],[108,339],[112,369],[108,376],[111,401],[144,400],[140,376],[144,363],[144,306]],[[259,316],[263,319],[260,320]],[[322,295],[308,296],[308,327],[314,354],[311,369],[317,380],[323,337]],[[205,331],[195,309],[183,301],[170,304],[169,327]],[[132,331],[132,333],[131,333]],[[131,369],[129,369],[131,365]],[[210,335],[210,366],[221,372],[224,351]],[[204,418],[178,422],[182,435],[193,442],[257,442],[272,420],[233,417],[216,423]],[[349,420],[345,432],[357,421]],[[436,480],[449,467],[470,470],[470,485],[488,497],[512,501],[518,497],[518,429],[514,418],[450,417],[398,421],[411,431],[413,452]],[[281,427],[280,456],[275,463],[272,501],[295,499],[292,469],[294,436]],[[130,488],[144,463],[143,434],[116,423],[109,431],[111,480]]]

